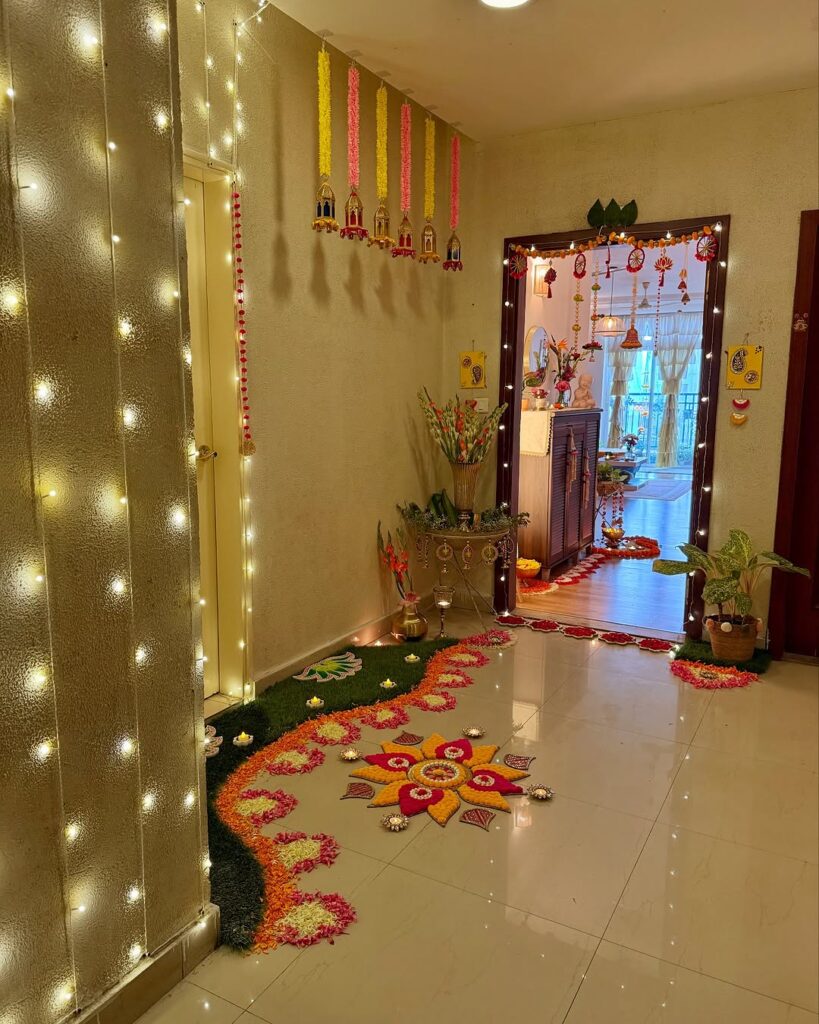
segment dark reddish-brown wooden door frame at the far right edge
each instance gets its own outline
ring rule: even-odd
[[[779,463],[779,495],[776,503],[774,551],[790,558],[793,534],[793,510],[796,504],[799,452],[802,433],[803,402],[812,382],[808,381],[809,330],[796,330],[798,314],[809,316],[815,305],[814,276],[819,259],[819,210],[803,210],[796,255],[796,280],[793,286],[793,315],[790,322],[790,351],[785,394],[785,421],[782,430],[782,455]],[[813,325],[814,333],[817,330]],[[785,651],[786,588],[788,579],[774,572],[768,612],[770,651],[780,658]]]

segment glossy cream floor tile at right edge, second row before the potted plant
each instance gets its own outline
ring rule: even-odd
[[[799,860],[819,861],[819,775],[692,748],[659,820]]]

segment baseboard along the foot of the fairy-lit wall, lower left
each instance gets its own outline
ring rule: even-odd
[[[140,962],[92,1006],[67,1020],[76,1024],[134,1024],[213,952],[219,939],[219,908],[209,903],[197,923]]]

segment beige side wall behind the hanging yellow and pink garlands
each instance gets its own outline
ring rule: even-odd
[[[183,142],[230,160],[231,0],[207,24],[180,7]],[[247,13],[246,5],[242,7]],[[254,436],[254,675],[348,635],[389,611],[376,524],[396,501],[426,499],[440,470],[415,394],[439,392],[443,294],[452,274],[338,234],[310,230],[316,169],[318,41],[275,9],[248,25],[239,74],[250,387]],[[333,175],[347,197],[347,59],[332,52]],[[213,68],[206,68],[210,55]],[[361,199],[375,202],[375,93],[361,74]],[[207,92],[206,92],[207,90]],[[208,97],[210,108],[205,106]],[[398,215],[400,97],[390,90],[390,212]],[[210,118],[208,118],[210,114]],[[210,122],[210,130],[208,124]],[[447,135],[438,126],[439,248],[445,245]],[[423,111],[414,109],[413,207],[423,219]],[[443,477],[442,475],[442,478]]]

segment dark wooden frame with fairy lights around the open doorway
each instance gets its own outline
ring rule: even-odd
[[[687,217],[685,220],[657,221],[635,224],[629,234],[637,240],[656,239],[666,231],[673,236],[690,234],[703,224],[720,224],[715,237],[719,242],[717,256],[707,265],[703,298],[702,360],[699,377],[700,401],[697,414],[696,447],[692,479],[691,526],[689,543],[707,545],[710,523],[710,504],[714,485],[714,443],[717,433],[717,404],[722,366],[723,318],[727,278],[728,240],[731,218],[728,214],[710,217]],[[497,502],[510,510],[518,511],[518,483],[520,472],[520,396],[523,384],[523,347],[525,332],[526,287],[529,274],[515,279],[510,273],[510,256],[515,246],[535,249],[568,249],[589,242],[597,232],[592,228],[558,231],[550,234],[520,234],[504,240],[501,259],[504,262],[501,295],[501,370],[499,403],[509,402],[501,419],[497,454]],[[615,243],[621,244],[621,243]],[[703,445],[700,447],[700,445]],[[511,611],[516,602],[514,568],[494,568],[494,606],[499,611]],[[701,573],[688,577],[684,610],[685,632],[697,639],[702,634],[704,603],[702,601]]]

